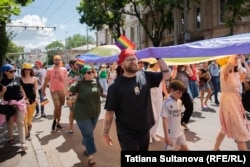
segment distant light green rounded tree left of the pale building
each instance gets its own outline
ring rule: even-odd
[[[87,42],[88,40],[88,42]],[[72,49],[72,48],[76,48],[82,45],[86,45],[86,44],[94,44],[95,40],[92,36],[88,36],[88,38],[84,35],[80,35],[80,34],[75,34],[72,37],[68,37],[66,39],[66,49]]]

